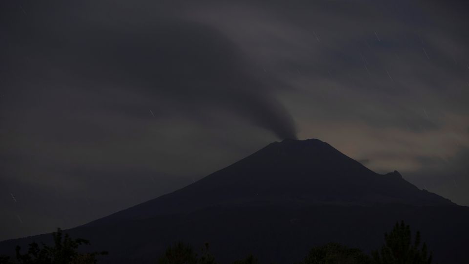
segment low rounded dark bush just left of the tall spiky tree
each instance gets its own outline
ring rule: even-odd
[[[369,264],[370,258],[358,248],[327,243],[311,248],[301,264]]]

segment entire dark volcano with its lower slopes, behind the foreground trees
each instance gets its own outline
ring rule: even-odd
[[[178,240],[209,241],[226,262],[254,253],[264,262],[292,263],[322,242],[377,249],[398,220],[422,231],[436,247],[435,260],[464,263],[464,249],[453,251],[469,235],[467,207],[418,189],[397,171],[377,174],[318,139],[285,139],[68,232],[107,249],[110,263],[152,263]],[[1,242],[0,253],[40,238]]]

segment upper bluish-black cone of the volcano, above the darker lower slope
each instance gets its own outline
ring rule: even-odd
[[[319,139],[285,139],[173,193],[88,225],[188,213],[216,205],[454,205],[397,172],[377,174]]]

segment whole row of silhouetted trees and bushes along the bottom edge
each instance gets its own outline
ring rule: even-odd
[[[95,264],[97,257],[107,255],[106,251],[79,253],[78,247],[89,244],[84,239],[71,239],[58,229],[53,233],[54,246],[37,243],[29,244],[29,249],[21,253],[16,247],[16,260],[0,256],[0,264]],[[368,255],[361,249],[350,248],[339,243],[327,243],[311,248],[298,264],[431,264],[432,253],[426,243],[421,243],[420,232],[412,239],[410,226],[404,221],[396,223],[391,232],[384,234],[383,246]],[[177,242],[168,247],[165,253],[155,261],[156,264],[218,264],[209,252],[209,244],[200,253],[190,244]],[[259,264],[253,255],[235,261],[233,264]]]

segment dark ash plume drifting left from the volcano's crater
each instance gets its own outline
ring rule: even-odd
[[[33,3],[29,9],[34,13],[28,17],[13,16],[12,20],[27,22],[4,28],[11,48],[4,55],[20,65],[2,77],[24,73],[36,75],[34,82],[42,86],[124,88],[171,101],[170,111],[227,110],[280,139],[296,138],[292,117],[259,78],[262,68],[222,32],[158,11],[127,16],[125,22],[119,10],[107,13],[104,22],[93,15],[78,16],[86,8],[45,18],[50,14],[40,11],[50,10]],[[23,89],[32,88],[25,84]]]

